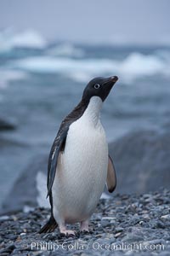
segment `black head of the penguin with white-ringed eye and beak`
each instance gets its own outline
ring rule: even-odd
[[[116,76],[107,79],[102,77],[92,79],[83,91],[82,100],[89,101],[91,97],[99,96],[104,102],[117,80]]]

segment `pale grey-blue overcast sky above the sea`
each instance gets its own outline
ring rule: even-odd
[[[170,44],[169,0],[0,0],[0,28],[48,39]]]

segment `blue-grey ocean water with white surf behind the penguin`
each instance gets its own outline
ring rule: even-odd
[[[88,81],[111,75],[119,81],[101,115],[108,142],[161,131],[170,117],[170,48],[45,44],[35,35],[7,45],[0,37],[0,119],[15,125],[0,132],[0,203],[29,163],[49,152]]]

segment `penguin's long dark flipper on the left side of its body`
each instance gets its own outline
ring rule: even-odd
[[[48,159],[48,195],[50,195],[53,183],[55,172],[57,168],[57,162],[59,157],[59,152],[63,151],[65,148],[65,140],[69,126],[66,126],[65,129],[59,130],[57,137],[54,139],[53,146],[51,148],[49,159]],[[47,195],[47,197],[48,197]]]

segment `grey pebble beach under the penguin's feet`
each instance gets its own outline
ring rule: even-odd
[[[170,191],[162,190],[144,195],[115,195],[111,200],[99,201],[96,213],[90,220],[90,232],[87,234],[78,231],[75,237],[62,236],[59,229],[48,234],[37,233],[49,216],[48,209],[25,209],[25,212],[11,216],[3,215],[0,217],[0,255],[169,255],[169,198]],[[78,230],[78,225],[71,228]],[[111,245],[121,245],[122,242],[166,246],[162,251],[151,253],[144,250],[139,250],[137,254],[130,250],[111,251]],[[52,249],[33,247],[47,243],[51,244]],[[62,248],[63,243],[66,250]],[[59,246],[55,251],[54,244]]]

